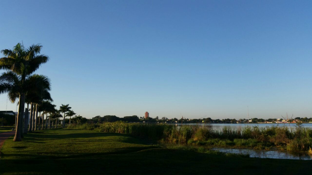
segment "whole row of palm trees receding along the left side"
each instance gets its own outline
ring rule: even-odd
[[[14,141],[21,141],[23,134],[27,132],[40,130],[41,112],[41,129],[47,128],[47,125],[50,128],[51,119],[52,123],[54,119],[58,120],[61,117],[60,112],[64,113],[63,127],[65,127],[66,115],[70,118],[75,115],[74,111],[70,110],[69,105],[60,106],[60,110],[55,109],[56,105],[51,104],[53,100],[49,92],[51,90],[50,79],[44,75],[34,74],[40,65],[49,60],[48,56],[39,54],[41,48],[41,45],[34,44],[26,49],[18,43],[13,50],[4,49],[1,51],[4,57],[0,58],[0,70],[6,70],[6,72],[0,75],[0,94],[8,93],[8,98],[12,103],[19,99]],[[24,112],[25,104],[27,104],[27,109]],[[30,121],[28,121],[28,111],[30,111]],[[48,113],[50,116],[47,121]],[[43,126],[44,115],[46,115],[45,127]],[[23,122],[24,124],[22,124]]]

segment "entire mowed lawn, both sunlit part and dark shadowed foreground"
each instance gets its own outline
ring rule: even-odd
[[[6,140],[0,174],[307,174],[312,161],[260,159],[167,149],[116,133],[44,130]]]

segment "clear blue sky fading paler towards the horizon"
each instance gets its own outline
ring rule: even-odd
[[[54,104],[87,118],[310,118],[311,21],[310,0],[3,0],[0,49],[41,43]]]

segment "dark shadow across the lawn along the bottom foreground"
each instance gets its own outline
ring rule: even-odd
[[[311,161],[302,160],[226,157],[183,150],[149,149],[107,156],[0,159],[0,171],[7,174],[38,175],[310,175],[310,164]]]

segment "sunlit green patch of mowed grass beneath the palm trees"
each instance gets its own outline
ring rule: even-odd
[[[139,151],[153,147],[131,136],[94,131],[44,130],[12,138],[1,149],[4,159],[68,158]]]

